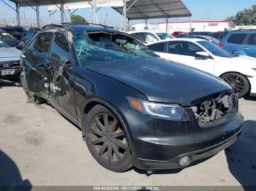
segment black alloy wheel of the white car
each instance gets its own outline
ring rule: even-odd
[[[243,75],[230,72],[222,75],[222,79],[233,88],[235,93],[238,94],[238,98],[244,97],[244,95],[249,93],[249,81]]]

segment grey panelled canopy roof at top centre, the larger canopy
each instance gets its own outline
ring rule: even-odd
[[[113,7],[113,9],[120,14],[123,12],[121,7]],[[127,9],[129,20],[190,17],[192,15],[181,0],[130,0],[127,1]]]

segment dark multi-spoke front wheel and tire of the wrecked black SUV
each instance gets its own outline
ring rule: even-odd
[[[87,147],[97,162],[110,171],[132,167],[132,155],[121,122],[105,106],[94,106],[83,122]]]

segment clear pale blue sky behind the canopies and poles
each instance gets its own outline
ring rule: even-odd
[[[15,7],[15,4],[9,0],[3,0]],[[192,12],[192,20],[225,20],[230,15],[236,15],[236,12],[244,8],[250,8],[256,4],[255,0],[184,0],[184,4]],[[39,7],[40,20],[42,25],[49,23],[47,7]],[[86,17],[91,23],[91,9],[79,9],[75,15]],[[30,7],[20,9],[21,23],[36,23],[36,13]],[[107,19],[106,19],[107,17]],[[110,26],[119,26],[121,15],[111,8],[102,8],[98,12],[99,23],[107,22]],[[172,20],[189,20],[188,17],[173,18]],[[158,23],[163,20],[149,20],[148,23]],[[15,11],[7,7],[0,0],[0,23],[15,23]],[[134,23],[142,23],[142,20],[132,21]],[[60,23],[60,12],[54,13],[52,23]]]

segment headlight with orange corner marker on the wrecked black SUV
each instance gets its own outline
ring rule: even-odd
[[[177,121],[189,120],[187,112],[181,106],[175,104],[158,104],[129,97],[127,100],[133,109],[154,117]]]

